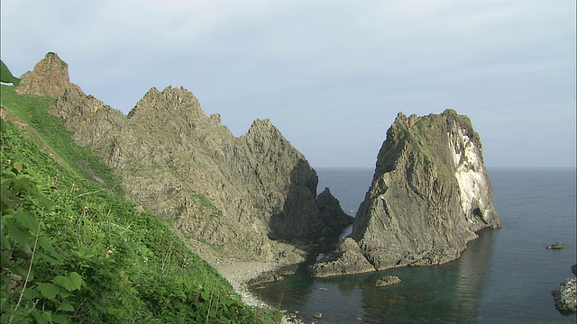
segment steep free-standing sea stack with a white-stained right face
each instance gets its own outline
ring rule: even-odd
[[[310,272],[345,275],[451,261],[477,238],[475,231],[501,226],[492,199],[481,139],[469,118],[453,110],[424,117],[401,112],[354,220],[348,239],[355,247],[340,247]],[[359,263],[355,258],[367,261],[361,270],[351,265]]]

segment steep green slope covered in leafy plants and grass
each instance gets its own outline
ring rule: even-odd
[[[122,198],[111,170],[48,114],[53,99],[1,94],[12,121],[1,139],[3,323],[274,321]]]

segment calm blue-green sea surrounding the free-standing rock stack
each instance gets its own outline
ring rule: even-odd
[[[353,215],[374,169],[317,168]],[[483,229],[462,257],[441,266],[405,267],[314,279],[305,264],[252,293],[310,323],[575,323],[551,294],[577,263],[575,168],[489,168],[501,229]],[[343,238],[351,229],[345,229]],[[545,247],[563,242],[563,249]],[[402,282],[377,288],[398,275]],[[313,314],[322,313],[321,319]]]

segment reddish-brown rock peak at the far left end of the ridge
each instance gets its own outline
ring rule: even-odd
[[[49,52],[36,64],[33,71],[21,76],[20,85],[15,90],[19,94],[56,98],[71,87],[80,91],[78,85],[70,83],[69,65],[60,59],[58,54]]]

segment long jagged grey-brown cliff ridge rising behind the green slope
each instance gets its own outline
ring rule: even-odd
[[[59,67],[68,67],[51,55],[39,65],[23,81],[42,84],[36,80],[50,79],[42,71],[61,75],[67,71]],[[196,238],[191,244],[207,242],[243,260],[292,263],[303,251],[279,239],[318,237],[334,226],[317,206],[315,170],[269,120],[234,137],[182,87],[151,88],[124,116],[69,84],[66,74],[50,113],[65,120],[79,145],[100,152],[131,199]],[[36,88],[21,90],[41,94]]]

